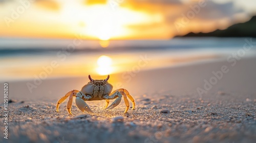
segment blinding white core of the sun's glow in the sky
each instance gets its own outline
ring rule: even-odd
[[[159,15],[150,15],[129,8],[119,7],[114,11],[108,5],[90,6],[84,13],[83,22],[86,23],[84,34],[105,41],[133,34],[130,26],[147,25],[162,20]]]

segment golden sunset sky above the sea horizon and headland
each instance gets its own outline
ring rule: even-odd
[[[0,0],[0,37],[170,39],[253,15],[255,0]]]

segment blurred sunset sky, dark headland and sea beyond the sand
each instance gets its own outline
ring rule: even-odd
[[[125,77],[218,60],[256,36],[254,15],[254,0],[1,0],[0,79]]]

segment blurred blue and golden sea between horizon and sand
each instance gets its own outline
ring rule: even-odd
[[[241,50],[246,46],[251,48],[243,56],[255,56],[255,45],[253,38],[97,41],[2,37],[0,79],[108,75],[184,66],[226,60],[233,53],[243,54]]]

